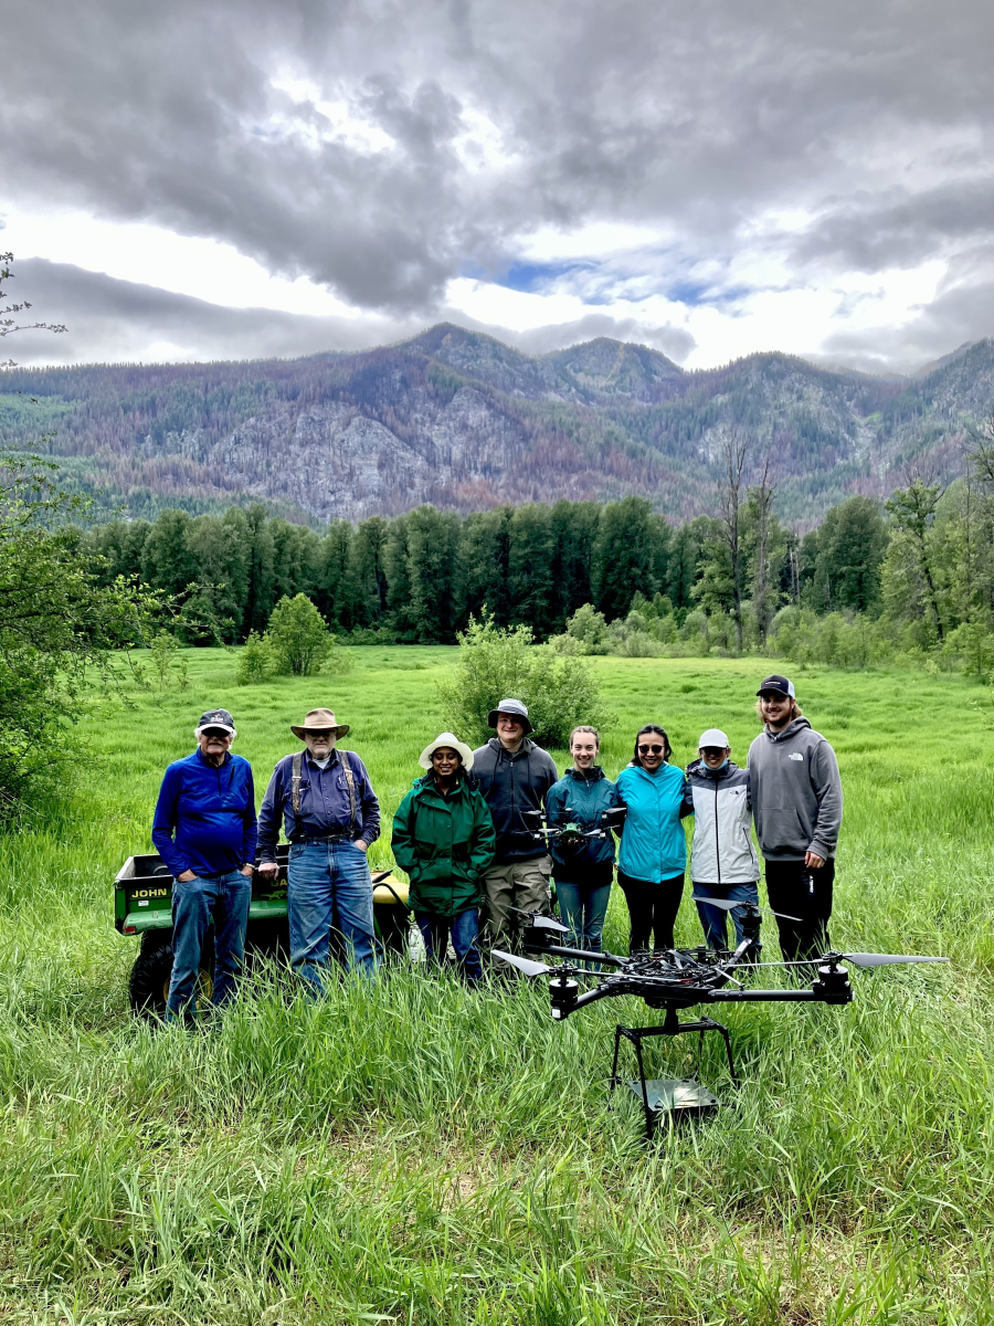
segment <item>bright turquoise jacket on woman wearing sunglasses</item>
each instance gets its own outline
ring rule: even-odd
[[[664,764],[648,773],[630,764],[618,774],[618,794],[628,808],[618,869],[632,879],[657,884],[687,870],[684,770]]]

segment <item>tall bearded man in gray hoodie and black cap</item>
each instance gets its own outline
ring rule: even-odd
[[[789,963],[828,948],[842,781],[835,752],[801,713],[790,679],[774,674],[757,691],[763,731],[749,747],[753,817],[766,861],[770,907]]]

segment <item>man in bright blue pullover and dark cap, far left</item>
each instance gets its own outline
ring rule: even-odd
[[[162,780],[152,842],[172,878],[172,976],[166,1020],[193,1016],[196,977],[213,916],[213,1004],[235,993],[256,859],[252,765],[231,753],[237,736],[227,709],[208,709],[193,729],[197,748]]]

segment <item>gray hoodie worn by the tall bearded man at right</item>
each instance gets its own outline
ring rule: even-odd
[[[765,728],[749,747],[749,780],[759,850],[769,861],[835,855],[842,781],[835,752],[807,719]]]

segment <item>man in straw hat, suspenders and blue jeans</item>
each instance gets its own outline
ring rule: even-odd
[[[368,977],[376,969],[366,850],[379,838],[379,802],[362,760],[337,749],[349,724],[338,723],[331,709],[311,709],[290,732],[305,749],[284,756],[273,769],[258,813],[258,869],[276,875],[282,821],[290,842],[290,963],[321,991],[333,926],[345,940],[350,969]]]

